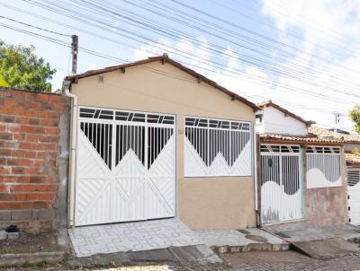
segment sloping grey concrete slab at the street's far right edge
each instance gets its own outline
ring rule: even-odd
[[[343,238],[327,240],[308,240],[292,243],[293,249],[298,250],[311,258],[331,258],[347,255],[359,251],[358,245]]]

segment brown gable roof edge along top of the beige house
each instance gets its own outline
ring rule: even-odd
[[[188,68],[186,66],[183,66],[179,62],[177,62],[177,61],[171,59],[170,57],[168,57],[167,54],[164,54],[163,56],[158,56],[158,57],[148,57],[148,58],[143,59],[143,60],[130,62],[130,63],[118,65],[118,66],[108,66],[108,67],[105,67],[105,68],[102,68],[102,69],[96,69],[96,70],[87,71],[87,72],[82,73],[82,74],[67,75],[65,77],[65,80],[70,81],[71,83],[75,83],[75,82],[77,82],[78,79],[81,79],[81,78],[94,76],[94,75],[97,75],[97,74],[109,73],[109,72],[116,71],[116,70],[123,70],[123,69],[125,69],[127,67],[130,67],[130,66],[139,66],[139,65],[143,65],[143,64],[147,64],[147,63],[151,63],[151,62],[156,62],[156,61],[162,61],[163,64],[168,63],[168,64],[170,64],[172,66],[175,66],[178,69],[184,71],[185,73],[193,75],[194,77],[196,77],[199,80],[199,82],[202,81],[204,83],[208,83],[209,85],[216,88],[217,90],[227,93],[231,97],[232,100],[241,101],[241,102],[245,103],[247,106],[249,106],[250,108],[254,109],[254,111],[259,110],[259,108],[257,107],[257,105],[255,103],[253,103],[251,101],[248,101],[247,99],[239,96],[235,92],[229,91],[225,87],[220,86],[220,84],[212,81],[211,79],[205,77],[204,75],[196,73],[194,70],[192,70],[192,69],[190,69],[190,68]]]

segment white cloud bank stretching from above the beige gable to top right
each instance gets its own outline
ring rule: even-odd
[[[249,100],[278,101],[303,118],[329,126],[333,124],[334,119],[331,111],[339,111],[344,115],[341,126],[351,128],[352,123],[346,115],[348,109],[360,99],[356,100],[341,92],[357,92],[360,95],[356,88],[356,85],[360,85],[360,76],[351,71],[360,71],[360,49],[356,50],[354,38],[360,37],[360,1],[263,0],[261,13],[274,21],[278,29],[278,39],[286,44],[293,45],[294,29],[302,32],[302,39],[297,38],[295,41],[295,46],[299,50],[293,51],[294,56],[285,59],[285,63],[277,62],[276,68],[282,70],[282,74],[277,76],[258,66],[242,62],[241,55],[229,46],[223,51],[222,57],[211,54],[209,42],[204,37],[198,37],[195,41],[184,37],[177,42],[159,39],[156,44],[135,50],[134,59],[166,52],[185,66],[190,66]],[[356,39],[357,42],[360,41],[360,38]],[[348,40],[354,43],[347,42]],[[344,50],[344,47],[351,49]],[[180,52],[175,54],[175,48]],[[274,52],[270,52],[270,55],[276,57]],[[220,68],[211,64],[211,61],[224,63],[226,67]],[[293,73],[293,69],[297,74]],[[300,80],[299,74],[307,74],[307,79],[302,75]],[[294,78],[289,78],[291,76]],[[275,83],[275,86],[272,83]],[[314,98],[305,93],[294,92],[292,88],[331,95],[335,99],[348,102],[339,104],[323,98]],[[330,92],[330,89],[338,92]],[[299,104],[300,107],[290,105],[293,103]],[[303,109],[304,107],[316,109]]]

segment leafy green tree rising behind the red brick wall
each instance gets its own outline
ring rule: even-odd
[[[49,63],[34,54],[35,48],[6,45],[0,40],[0,77],[11,87],[33,91],[51,92],[52,75],[56,73]]]

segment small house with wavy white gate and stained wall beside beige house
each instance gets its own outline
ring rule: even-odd
[[[272,101],[258,106],[261,223],[346,223],[342,142],[309,134],[312,121]]]

